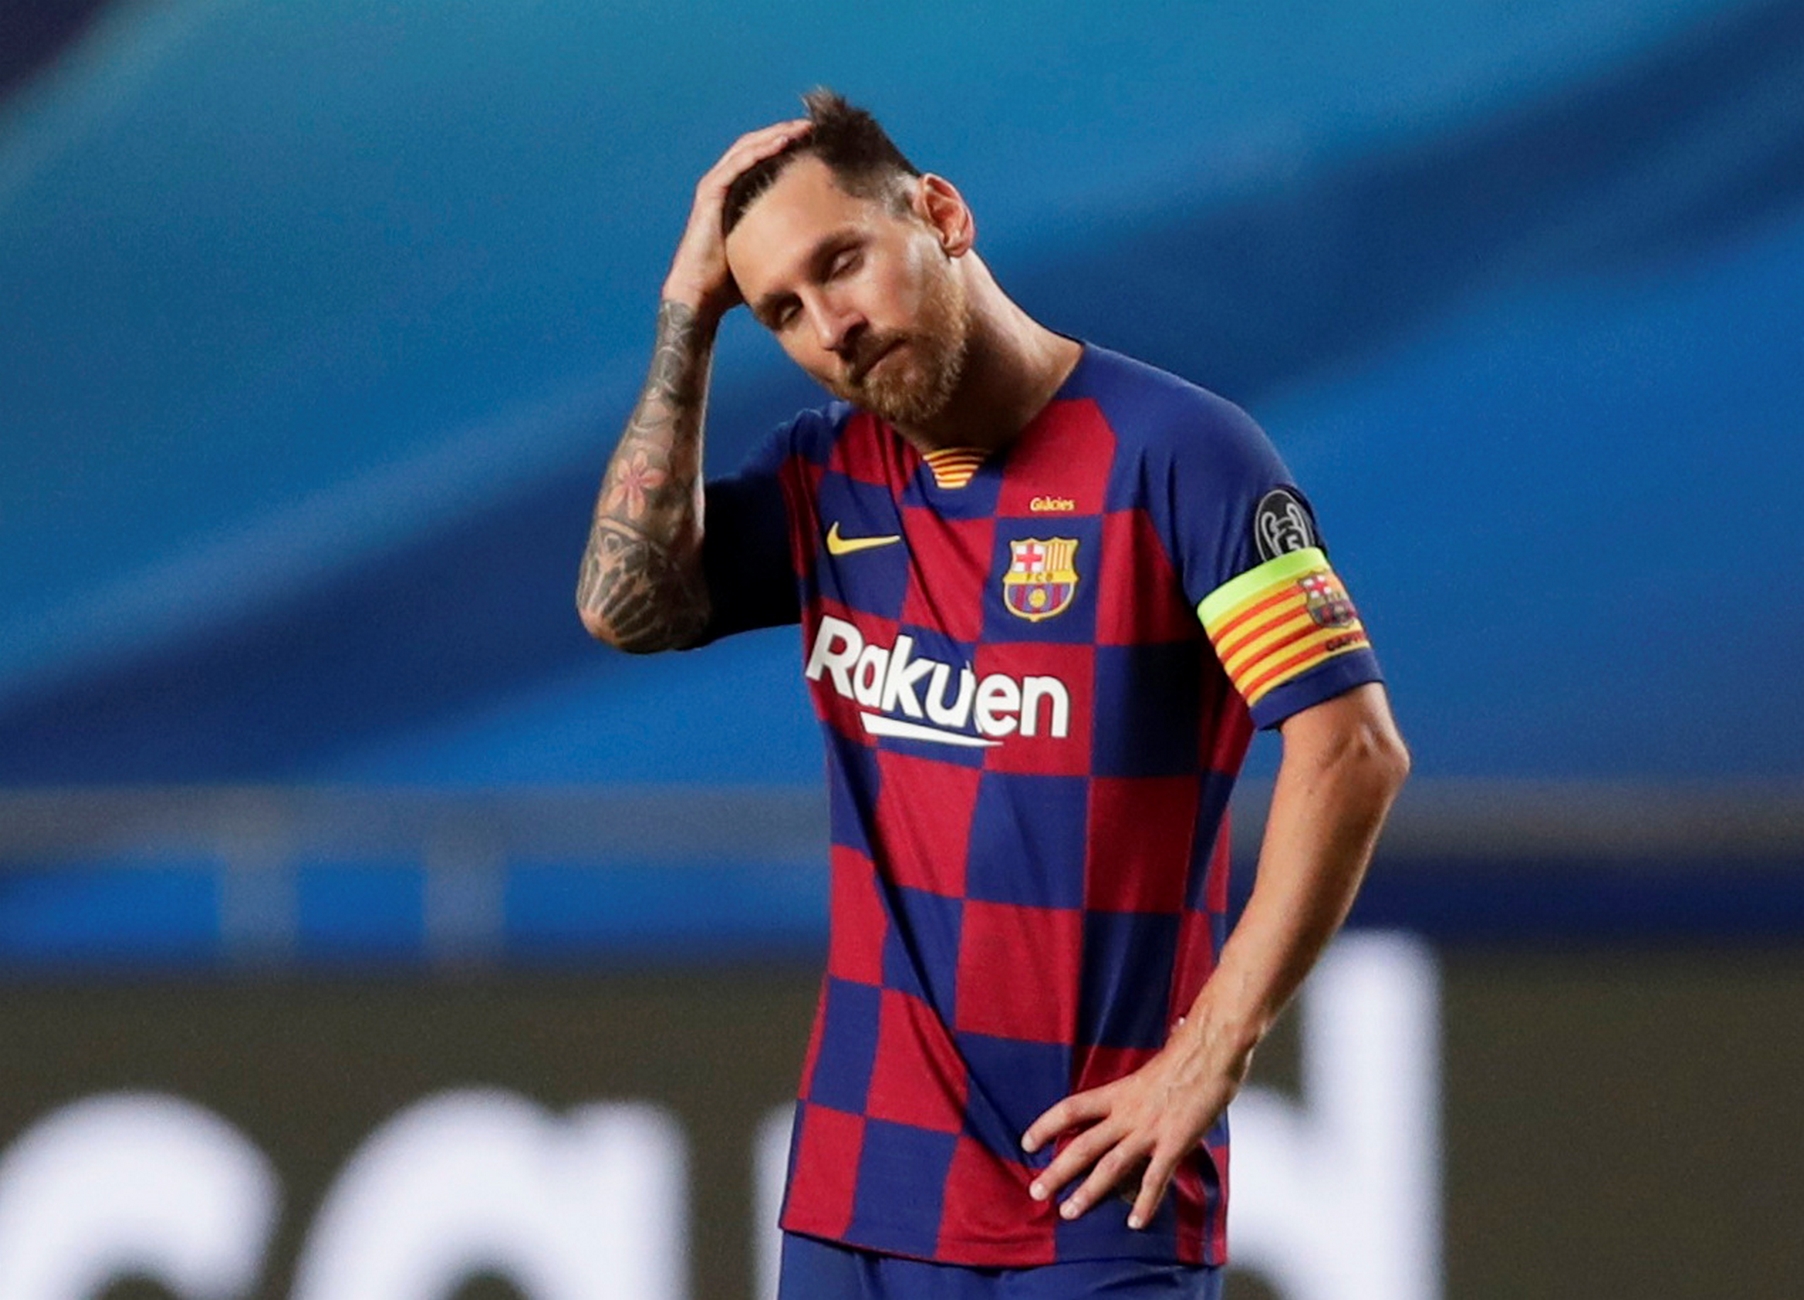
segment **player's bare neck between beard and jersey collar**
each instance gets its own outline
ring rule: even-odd
[[[996,451],[1041,413],[1077,364],[1082,346],[1021,310],[974,252],[960,260],[971,305],[965,371],[933,420],[898,427],[918,451]]]

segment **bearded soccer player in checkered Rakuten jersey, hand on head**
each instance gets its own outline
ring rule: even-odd
[[[781,1295],[1214,1296],[1227,1103],[1409,766],[1376,660],[1243,411],[1028,317],[949,180],[805,103],[696,186],[577,588],[635,653],[801,622],[832,934]],[[704,485],[741,301],[837,400]]]

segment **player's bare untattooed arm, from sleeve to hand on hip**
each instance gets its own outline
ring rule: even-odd
[[[1409,774],[1384,687],[1304,709],[1283,723],[1283,737],[1259,874],[1216,972],[1153,1060],[1068,1096],[1023,1138],[1032,1152],[1075,1132],[1032,1188],[1045,1199],[1088,1172],[1061,1206],[1068,1219],[1138,1176],[1128,1222],[1151,1222],[1178,1163],[1239,1091],[1254,1048],[1353,905]]]

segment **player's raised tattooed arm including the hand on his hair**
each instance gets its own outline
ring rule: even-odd
[[[714,332],[740,301],[720,209],[741,171],[806,130],[806,121],[788,121],[741,135],[696,184],[664,279],[651,373],[601,480],[575,586],[583,626],[619,649],[644,655],[693,645],[707,626],[702,415]]]

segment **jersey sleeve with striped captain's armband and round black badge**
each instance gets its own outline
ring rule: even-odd
[[[1245,411],[1212,398],[1169,472],[1185,597],[1254,725],[1382,680],[1308,498]]]

